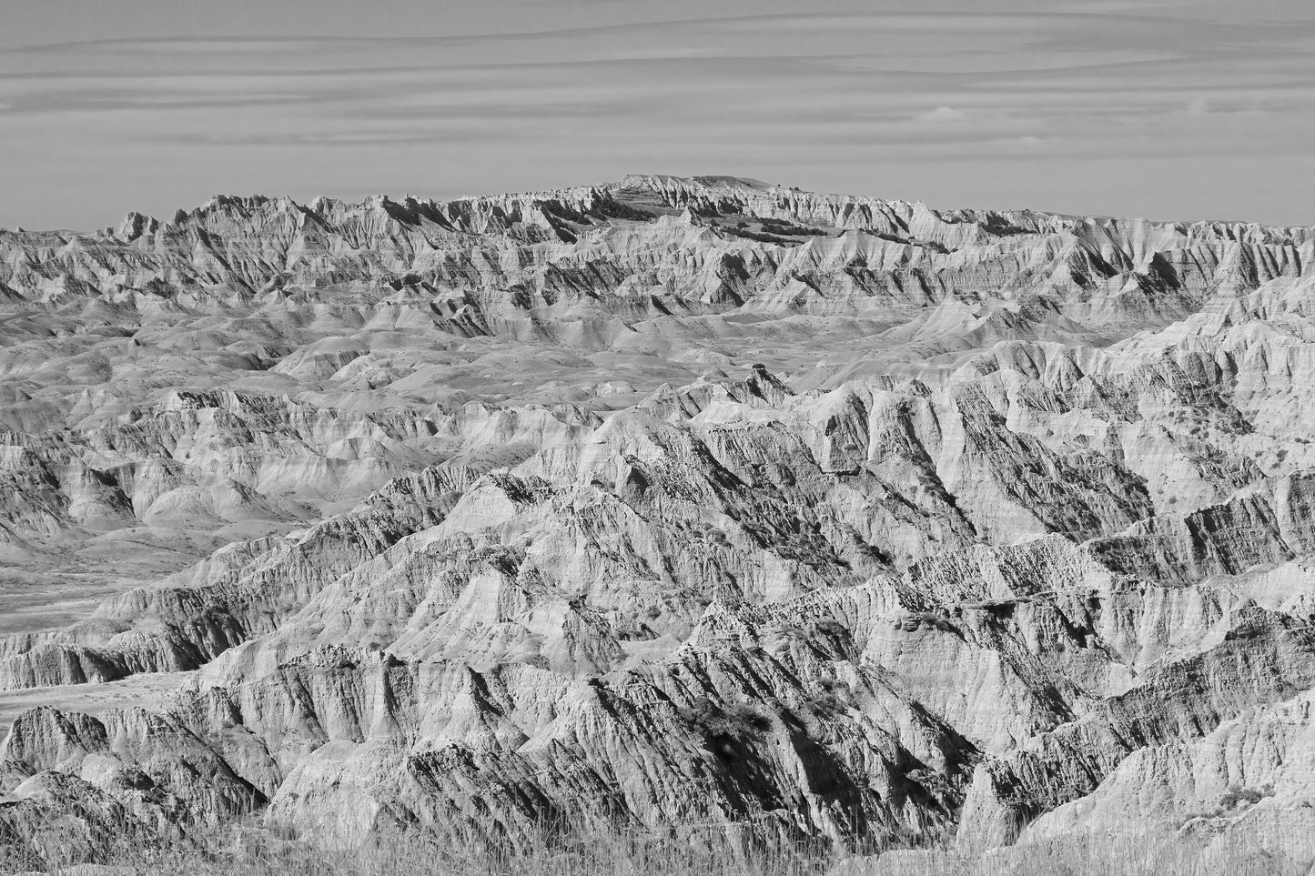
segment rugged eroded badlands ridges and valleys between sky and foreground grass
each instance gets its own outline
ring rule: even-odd
[[[0,233],[0,839],[1306,834],[1312,262],[734,178]]]

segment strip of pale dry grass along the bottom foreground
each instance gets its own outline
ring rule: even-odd
[[[548,840],[517,851],[456,848],[416,835],[350,851],[281,839],[254,823],[200,839],[141,842],[132,830],[88,831],[85,822],[14,825],[0,831],[0,873],[66,876],[1307,876],[1315,837],[1252,831],[1233,837],[1078,834],[981,855],[924,850],[840,854],[753,831],[696,830],[685,839],[615,833]]]

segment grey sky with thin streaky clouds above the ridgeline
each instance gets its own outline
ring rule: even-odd
[[[1315,225],[1315,4],[0,0],[0,226],[629,172]]]

